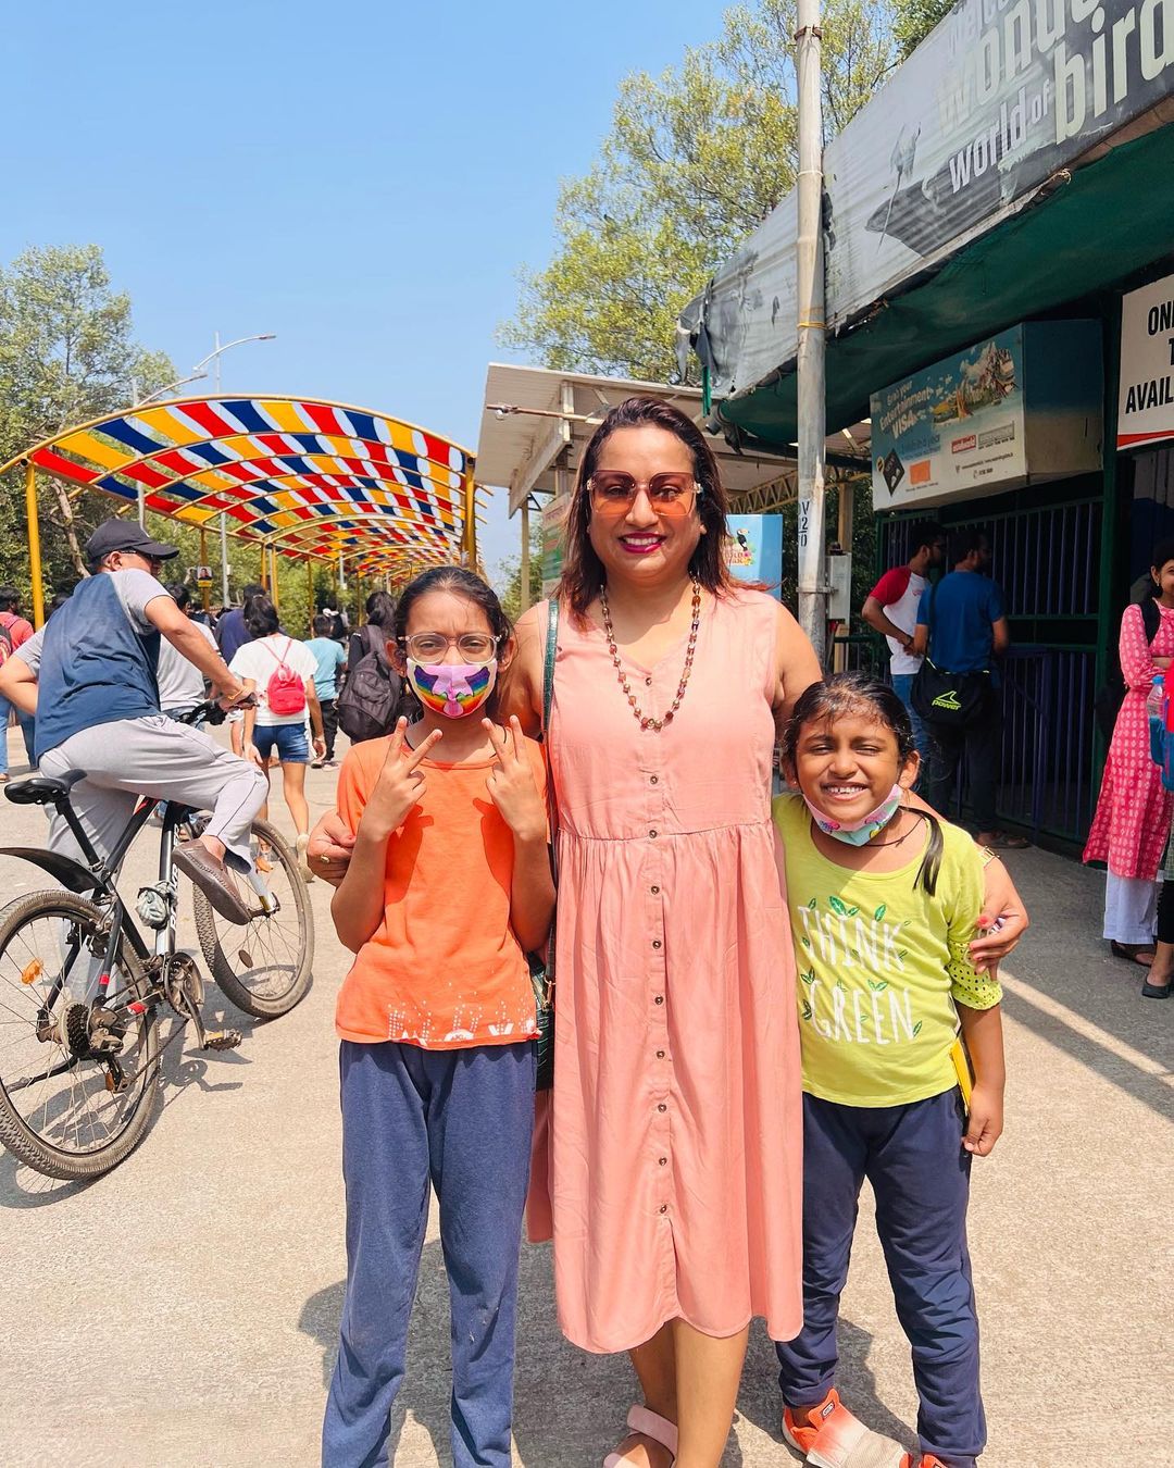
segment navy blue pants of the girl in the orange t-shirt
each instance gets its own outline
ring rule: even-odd
[[[342,1041],[348,1270],[324,1468],[387,1462],[430,1182],[452,1305],[452,1461],[508,1468],[534,1063],[533,1042],[430,1051]]]

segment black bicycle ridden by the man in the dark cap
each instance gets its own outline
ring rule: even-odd
[[[182,716],[223,718],[217,703]],[[179,882],[176,834],[195,837],[200,816],[142,797],[107,859],[98,856],[69,799],[85,771],[34,777],[4,787],[16,804],[51,804],[73,832],[85,863],[32,847],[0,856],[32,862],[65,890],[16,898],[0,912],[0,1142],[22,1163],[56,1179],[100,1177],[138,1147],[158,1097],[163,1051],[186,1025],[203,1050],[232,1050],[236,1029],[208,1031],[201,1017],[204,976],[176,950]],[[135,915],[116,881],[132,841],[161,806],[158,879],[139,888]],[[252,824],[247,925],[219,918],[195,888],[195,926],[223,994],[260,1020],[289,1013],[310,988],[314,918],[295,853],[266,821]],[[160,1045],[158,1011],[183,1023]]]

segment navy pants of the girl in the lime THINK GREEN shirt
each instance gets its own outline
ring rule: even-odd
[[[951,1468],[974,1468],[986,1445],[964,1129],[957,1091],[894,1107],[803,1097],[803,1333],[776,1346],[788,1406],[822,1402],[835,1384],[835,1323],[867,1177],[897,1315],[913,1348],[922,1452]]]

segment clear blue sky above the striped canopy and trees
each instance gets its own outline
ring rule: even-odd
[[[521,264],[550,255],[619,79],[721,4],[38,0],[4,19],[0,258],[95,242],[144,345],[229,390],[380,408],[475,448]],[[201,383],[200,388],[208,385]],[[483,553],[517,546],[490,511]]]

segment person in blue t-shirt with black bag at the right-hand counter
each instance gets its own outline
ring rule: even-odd
[[[989,672],[982,708],[961,728],[929,725],[929,777],[926,800],[942,815],[949,813],[958,763],[966,756],[970,804],[980,846],[1023,847],[1021,837],[995,826],[995,785],[999,777],[999,725],[1002,693],[996,659],[1011,646],[1002,587],[985,573],[991,565],[991,542],[971,527],[949,536],[947,565],[954,570],[922,593],[913,655],[929,655],[944,672]]]

